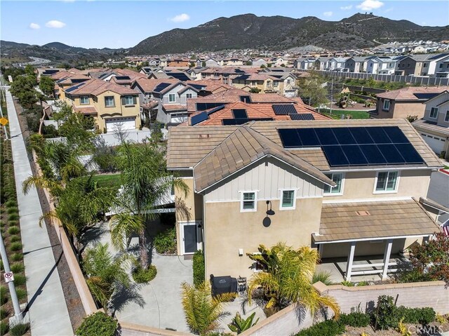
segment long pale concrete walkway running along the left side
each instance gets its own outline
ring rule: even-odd
[[[20,215],[28,307],[32,336],[74,335],[46,226],[39,227],[42,209],[36,189],[22,193],[22,182],[32,175],[27,150],[11,93],[6,90],[13,149],[15,184]]]

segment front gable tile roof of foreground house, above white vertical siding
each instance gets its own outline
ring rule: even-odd
[[[202,191],[266,155],[281,159],[321,182],[334,185],[314,166],[298,159],[248,126],[242,126],[194,166],[195,189],[197,192]]]

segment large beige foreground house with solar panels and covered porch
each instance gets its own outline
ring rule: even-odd
[[[283,241],[354,257],[386,278],[392,253],[429,238],[438,225],[417,201],[441,161],[403,119],[253,121],[242,126],[177,126],[167,168],[185,180],[190,210],[178,217],[178,254],[204,251],[206,278],[250,276],[246,253]]]

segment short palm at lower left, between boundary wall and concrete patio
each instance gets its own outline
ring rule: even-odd
[[[114,291],[120,286],[128,287],[130,278],[126,272],[129,257],[113,257],[108,251],[108,244],[98,244],[93,248],[88,248],[83,257],[83,271],[86,272],[86,283],[91,293],[98,302],[102,304],[107,313]]]

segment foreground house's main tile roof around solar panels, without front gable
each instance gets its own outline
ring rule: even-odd
[[[320,128],[320,127],[371,127],[371,126],[398,126],[408,137],[410,143],[420,154],[428,167],[442,167],[441,160],[430,149],[415,128],[406,119],[349,119],[349,120],[313,120],[313,121],[253,121],[248,127],[257,131],[267,139],[281,146],[279,128]],[[241,126],[242,127],[242,126]],[[238,126],[176,126],[168,130],[168,168],[191,168],[204,156],[209,154],[217,145],[233,133]],[[294,151],[297,151],[296,149]],[[307,162],[319,161],[323,170],[326,166],[324,154],[319,151],[309,152],[299,150],[294,154]],[[326,161],[327,162],[327,161]],[[412,165],[416,166],[416,165]],[[422,165],[418,165],[422,167]],[[349,167],[349,169],[362,169],[363,167]],[[373,168],[370,166],[369,168]],[[382,166],[384,168],[384,166]]]

